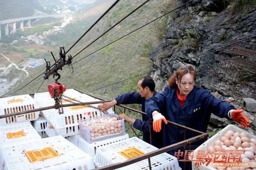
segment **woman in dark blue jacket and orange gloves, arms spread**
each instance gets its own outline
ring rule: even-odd
[[[214,113],[219,117],[235,120],[243,128],[249,127],[249,119],[243,114],[243,110],[235,110],[229,103],[216,99],[208,90],[195,86],[195,82],[195,69],[192,66],[182,66],[168,79],[169,87],[146,100],[146,114],[153,115],[154,131],[161,131],[162,121],[167,125],[163,126],[164,147],[184,140],[184,130],[167,124],[166,119],[206,132],[210,115]],[[198,135],[188,130],[185,133],[186,138]],[[190,150],[196,149],[202,142],[193,143]],[[174,151],[170,154],[173,155]]]

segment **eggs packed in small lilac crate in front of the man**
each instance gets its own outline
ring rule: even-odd
[[[116,117],[104,117],[98,120],[91,119],[90,122],[84,122],[80,131],[90,131],[91,140],[101,138],[105,135],[122,133],[122,120]],[[86,137],[87,138],[87,137]]]

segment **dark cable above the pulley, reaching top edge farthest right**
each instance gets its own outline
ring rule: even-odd
[[[72,63],[72,65],[75,64],[75,63],[77,63],[77,62],[79,62],[79,61],[81,61],[81,60],[83,60],[84,58],[87,58],[87,57],[91,56],[92,54],[94,54],[94,53],[100,51],[100,50],[103,49],[104,47],[109,46],[109,45],[111,45],[112,43],[114,43],[114,42],[116,42],[116,41],[118,41],[118,40],[120,40],[120,39],[122,39],[122,38],[124,38],[124,37],[126,37],[126,36],[128,36],[128,35],[130,35],[130,34],[132,34],[132,33],[134,33],[135,31],[137,31],[137,30],[139,30],[139,29],[141,29],[141,28],[143,28],[143,27],[149,25],[150,23],[152,23],[152,22],[154,22],[154,21],[160,19],[161,17],[163,17],[163,16],[165,16],[165,15],[167,15],[167,14],[169,14],[169,13],[171,13],[171,12],[173,12],[173,11],[175,11],[175,10],[177,10],[177,9],[179,9],[179,8],[181,8],[181,7],[183,7],[183,6],[185,6],[185,5],[187,5],[188,3],[192,2],[192,1],[194,1],[194,0],[191,0],[191,1],[189,1],[189,2],[187,2],[187,3],[185,3],[185,4],[183,4],[183,5],[181,5],[181,6],[179,6],[179,7],[177,7],[177,8],[175,8],[175,9],[173,9],[172,11],[169,11],[169,12],[163,14],[162,16],[160,16],[160,17],[158,17],[158,18],[156,18],[156,19],[154,19],[154,20],[152,20],[152,21],[146,23],[145,25],[143,25],[143,26],[141,26],[141,27],[139,27],[139,28],[133,30],[132,32],[130,32],[130,33],[128,33],[128,34],[126,34],[126,35],[124,35],[124,36],[122,36],[122,37],[120,37],[120,38],[114,40],[114,41],[112,41],[111,43],[109,43],[109,44],[107,44],[107,45],[105,45],[105,46],[99,48],[99,49],[96,50],[95,52],[93,52],[93,53],[91,53],[91,54],[89,54],[89,55],[87,55],[87,56],[85,56],[85,57],[79,59],[78,61],[76,61],[76,62],[74,62],[74,63]]]

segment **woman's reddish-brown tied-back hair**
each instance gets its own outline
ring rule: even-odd
[[[168,86],[169,87],[177,87],[178,85],[176,84],[176,80],[178,80],[178,82],[181,81],[181,78],[187,74],[190,73],[191,76],[194,79],[194,82],[196,82],[196,70],[192,67],[192,66],[181,66],[179,69],[177,69],[173,76],[170,76],[168,79]]]

